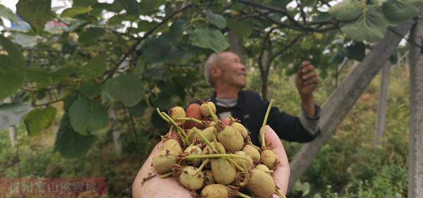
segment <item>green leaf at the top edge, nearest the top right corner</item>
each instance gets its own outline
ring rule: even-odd
[[[410,0],[386,0],[381,6],[386,19],[393,24],[410,20],[417,16],[418,7]]]

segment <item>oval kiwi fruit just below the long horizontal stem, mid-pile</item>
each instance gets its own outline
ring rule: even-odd
[[[212,159],[212,173],[214,181],[223,185],[230,184],[236,178],[235,166],[225,158]]]

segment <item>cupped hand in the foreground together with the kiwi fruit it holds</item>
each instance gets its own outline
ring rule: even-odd
[[[190,107],[186,114],[173,114],[174,108],[170,115],[158,111],[172,127],[137,174],[133,197],[192,197],[197,193],[207,198],[250,197],[240,192],[244,189],[259,197],[286,194],[290,169],[274,130],[263,128],[266,140],[260,149],[251,144],[247,129],[237,120],[225,120],[223,125],[214,104],[194,109],[201,113],[190,112]],[[192,121],[204,130],[184,130],[180,127],[183,120],[185,127]],[[175,134],[182,144],[171,139]]]

